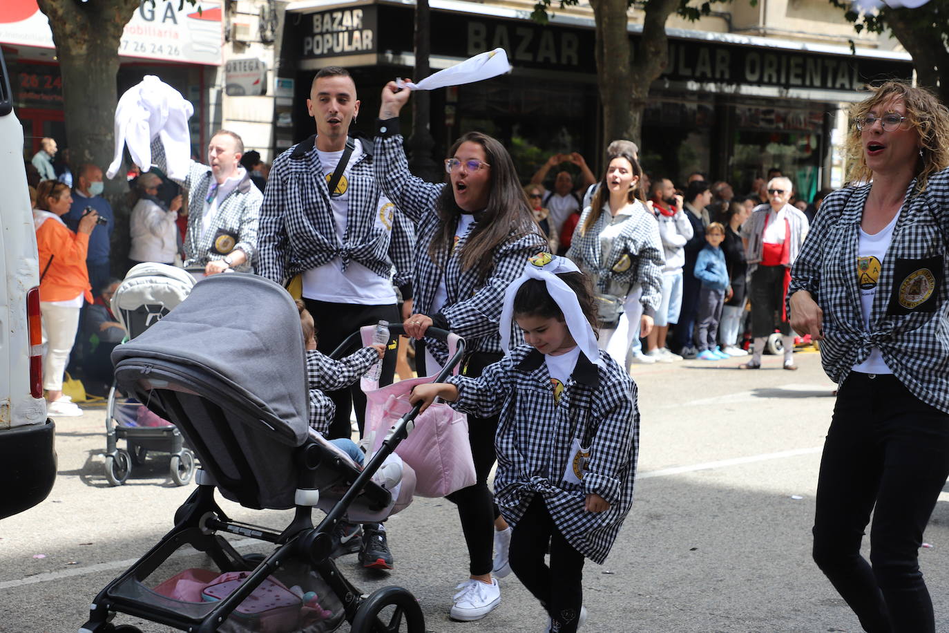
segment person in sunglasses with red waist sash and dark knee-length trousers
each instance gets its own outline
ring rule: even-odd
[[[808,236],[808,216],[791,206],[791,179],[773,177],[768,181],[768,204],[759,204],[741,226],[745,243],[745,261],[750,276],[748,299],[752,302],[752,360],[739,369],[760,369],[761,354],[774,330],[781,332],[784,344],[784,368],[794,364],[794,335],[785,306],[791,265]],[[777,315],[775,318],[774,315]]]

